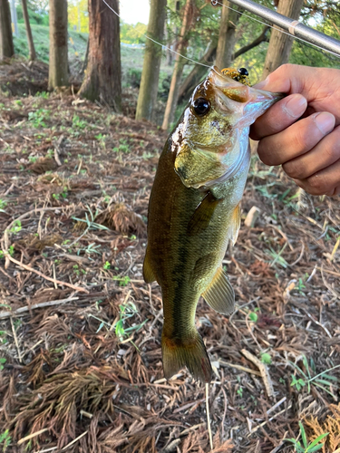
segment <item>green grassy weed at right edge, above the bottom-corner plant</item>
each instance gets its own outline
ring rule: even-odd
[[[297,377],[295,376],[295,374],[292,374],[292,382],[290,384],[291,387],[296,387],[296,390],[299,391],[302,389],[302,387],[307,386],[308,393],[310,393],[310,386],[311,384],[313,384],[316,387],[325,390],[336,400],[336,397],[334,393],[332,393],[331,389],[332,385],[336,385],[338,379],[335,378],[335,376],[330,376],[327,373],[329,371],[335,370],[335,368],[339,368],[340,365],[335,365],[333,368],[322,371],[315,376],[312,376],[311,371],[313,371],[314,373],[316,372],[316,365],[313,359],[310,359],[310,366],[308,365],[308,361],[306,360],[305,356],[303,356],[302,361],[305,366],[306,372],[303,371],[298,365],[296,365],[296,363],[289,361],[290,365],[292,365],[298,373]]]

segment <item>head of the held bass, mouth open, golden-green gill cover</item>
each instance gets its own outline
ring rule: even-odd
[[[187,188],[213,186],[236,174],[248,159],[249,126],[282,94],[237,82],[214,66],[193,92],[172,134],[174,167]],[[206,113],[195,110],[209,103]]]

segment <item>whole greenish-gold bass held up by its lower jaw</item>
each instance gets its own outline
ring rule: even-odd
[[[186,366],[196,380],[211,381],[196,307],[202,295],[218,313],[234,310],[235,294],[222,260],[228,242],[235,244],[238,237],[249,126],[282,97],[237,82],[213,66],[160,155],[149,200],[143,277],[160,284],[167,380]]]

